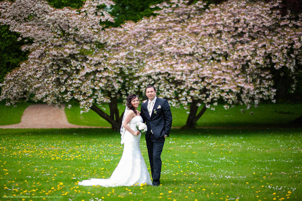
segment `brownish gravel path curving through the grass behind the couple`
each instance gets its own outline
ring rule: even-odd
[[[65,104],[62,104],[62,109],[47,104],[30,105],[24,110],[19,124],[0,126],[0,128],[100,128],[70,124],[64,108]]]

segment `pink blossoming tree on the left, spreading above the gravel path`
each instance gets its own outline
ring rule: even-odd
[[[105,34],[100,25],[100,21],[113,18],[99,5],[113,2],[88,0],[79,10],[55,9],[43,0],[0,2],[0,23],[19,32],[20,39],[33,40],[22,47],[30,52],[28,60],[7,74],[1,84],[0,99],[13,105],[31,99],[56,106],[75,99],[82,111],[96,111],[118,130],[117,95],[126,93],[121,90],[123,76],[130,79],[133,69],[114,65],[121,62],[110,50],[118,45],[114,32]],[[109,104],[109,115],[97,107],[102,103]]]

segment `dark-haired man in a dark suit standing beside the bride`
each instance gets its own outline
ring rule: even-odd
[[[140,116],[146,122],[146,144],[148,149],[153,186],[160,184],[160,171],[162,169],[162,148],[165,138],[169,137],[172,125],[172,113],[167,100],[156,97],[156,89],[152,85],[146,87],[148,101],[142,103]]]

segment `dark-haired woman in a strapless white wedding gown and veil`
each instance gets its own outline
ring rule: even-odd
[[[135,184],[152,185],[150,175],[140,152],[141,133],[137,130],[136,124],[143,122],[140,111],[138,97],[130,94],[127,97],[126,109],[121,127],[121,144],[124,143],[123,155],[117,167],[109,179],[90,179],[79,182],[83,186],[132,186]]]

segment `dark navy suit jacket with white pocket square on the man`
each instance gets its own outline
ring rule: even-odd
[[[169,136],[172,126],[172,113],[168,101],[166,99],[156,97],[151,117],[147,108],[148,101],[142,103],[140,109],[140,116],[143,118],[143,122],[146,122],[148,127],[146,132],[146,140],[149,138],[151,129],[156,138],[162,138],[164,135]]]

